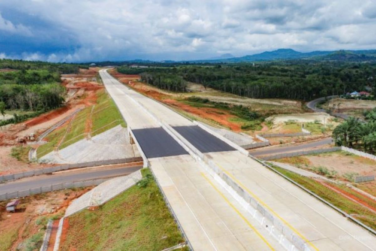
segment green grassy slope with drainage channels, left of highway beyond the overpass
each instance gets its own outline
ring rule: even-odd
[[[126,123],[123,120],[119,110],[111,97],[105,90],[99,90],[97,92],[97,105],[94,106],[92,114],[91,136],[95,136],[117,125],[126,127]],[[76,114],[72,122],[69,132],[64,138],[64,141],[60,145],[60,149],[63,149],[73,143],[82,140],[88,135],[88,127],[90,120],[90,113],[92,106],[88,106],[79,113]],[[48,143],[39,146],[37,149],[37,157],[40,158],[45,154],[55,150],[61,139],[64,137],[69,127],[69,122],[59,127],[51,134],[47,136]]]

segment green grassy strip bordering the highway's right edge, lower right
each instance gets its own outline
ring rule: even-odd
[[[283,168],[275,167],[276,170],[283,173],[284,175],[288,176],[292,180],[296,181],[306,189],[310,190],[311,192],[317,194],[321,198],[325,199],[326,201],[332,203],[336,207],[342,209],[348,214],[359,214],[360,216],[354,216],[359,221],[363,222],[368,227],[371,227],[376,230],[376,214],[372,213],[365,207],[350,201],[349,199],[345,198],[344,196],[332,191],[331,189],[323,186],[322,184],[318,183],[317,181],[307,178],[304,176],[301,176],[299,174],[296,174],[294,172],[290,172],[288,170],[285,170]],[[346,186],[340,186],[336,185],[336,187],[345,190],[348,192],[348,188]],[[352,194],[357,195],[356,193]],[[364,198],[362,197],[362,200]],[[368,201],[367,201],[368,202]],[[373,205],[373,203],[371,204]]]

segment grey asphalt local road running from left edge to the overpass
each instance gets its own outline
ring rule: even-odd
[[[142,168],[142,165],[127,167],[95,167],[84,170],[70,170],[55,173],[53,175],[39,175],[0,184],[0,193],[11,193],[36,187],[51,186],[73,181],[85,181],[91,179],[109,178],[128,175]]]

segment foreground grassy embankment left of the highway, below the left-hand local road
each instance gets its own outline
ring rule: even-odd
[[[143,174],[146,187],[133,186],[96,211],[69,217],[61,250],[162,250],[184,242],[150,170]]]

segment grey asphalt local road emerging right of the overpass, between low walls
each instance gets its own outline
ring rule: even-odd
[[[268,148],[261,148],[259,150],[250,151],[250,154],[253,156],[262,156],[262,155],[269,155],[269,154],[280,154],[283,152],[292,152],[292,151],[301,151],[302,149],[307,148],[314,148],[318,146],[323,146],[332,143],[332,138],[325,138],[323,140],[314,141],[311,143],[300,144],[300,145],[292,145],[292,146],[274,146]]]

